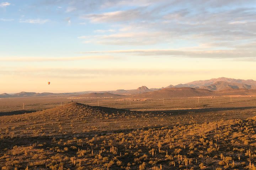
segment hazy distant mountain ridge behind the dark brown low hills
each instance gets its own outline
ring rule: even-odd
[[[43,92],[43,93],[36,93],[36,92],[20,92],[16,94],[0,94],[0,98],[8,98],[8,97],[49,97],[49,96],[78,96],[78,95],[86,95],[86,94],[92,94],[97,93],[91,96],[103,96],[103,97],[116,97],[114,95],[136,95],[136,94],[142,94],[145,92],[153,92],[153,91],[159,91],[161,89],[170,89],[170,88],[181,88],[181,87],[191,87],[195,89],[206,89],[210,91],[222,91],[222,90],[231,90],[231,89],[256,89],[256,81],[252,79],[248,80],[242,80],[242,79],[233,79],[233,78],[213,78],[209,80],[197,80],[197,81],[191,81],[189,83],[185,84],[177,84],[177,85],[169,85],[167,87],[161,87],[161,88],[148,88],[146,86],[138,87],[137,89],[132,90],[109,90],[109,91],[82,91],[82,92],[73,92],[73,93],[49,93],[49,92]],[[105,94],[104,94],[105,93]],[[109,94],[106,94],[109,93]],[[104,94],[104,95],[102,95]],[[110,95],[111,94],[111,95]],[[113,95],[112,95],[113,94]],[[87,95],[90,96],[90,95]]]

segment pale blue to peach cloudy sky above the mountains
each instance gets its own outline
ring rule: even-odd
[[[0,94],[256,80],[255,16],[256,0],[0,0]]]

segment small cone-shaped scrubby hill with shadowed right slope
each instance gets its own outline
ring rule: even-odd
[[[94,124],[94,121],[104,120],[118,117],[125,117],[130,111],[124,109],[108,108],[108,107],[97,107],[89,106],[86,104],[70,102],[63,106],[57,106],[43,111],[37,111],[33,113],[10,115],[0,117],[0,127],[5,126],[16,126],[15,135],[18,136],[37,136],[37,135],[49,135],[53,133],[58,134],[72,134],[74,131],[80,133],[85,131],[88,125]],[[19,126],[19,123],[25,123],[27,127],[33,125],[36,128],[29,133],[22,130],[24,127]],[[40,127],[44,126],[43,129]],[[105,124],[101,124],[104,130]],[[91,127],[91,126],[89,126]],[[34,134],[33,134],[34,133]]]

